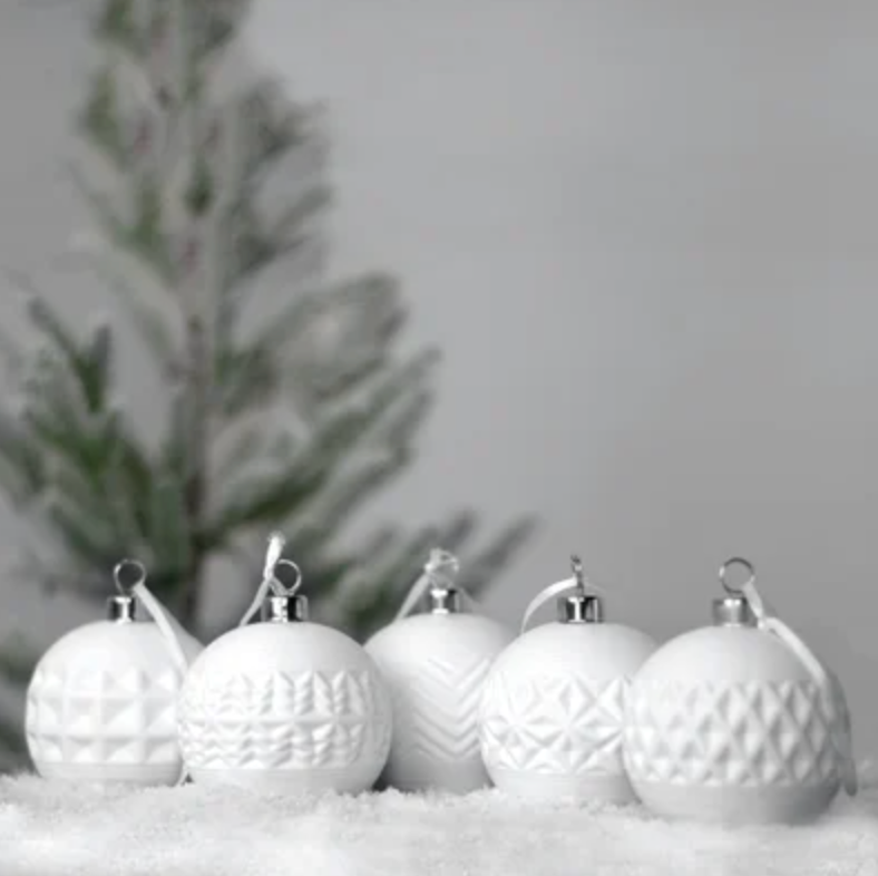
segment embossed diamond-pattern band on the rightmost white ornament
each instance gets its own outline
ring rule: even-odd
[[[832,783],[839,717],[810,681],[641,682],[628,698],[625,765],[632,779],[672,785]]]

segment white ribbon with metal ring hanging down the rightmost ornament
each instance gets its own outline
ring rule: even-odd
[[[750,570],[750,577],[739,587],[731,587],[725,582],[725,570],[732,563],[739,563]],[[762,630],[770,635],[780,639],[796,656],[801,661],[802,665],[808,670],[808,673],[813,679],[820,692],[822,700],[823,711],[830,722],[832,742],[836,752],[841,761],[841,783],[851,797],[857,794],[858,778],[857,778],[857,763],[853,759],[853,747],[850,734],[849,719],[843,713],[845,707],[840,697],[836,695],[836,683],[829,673],[823,668],[823,664],[817,659],[814,653],[804,643],[804,641],[796,633],[792,627],[788,626],[780,617],[770,614],[765,607],[765,603],[755,586],[755,574],[753,567],[747,561],[730,559],[720,570],[720,581],[729,592],[738,590],[742,596],[748,601],[753,615],[757,619],[758,629]]]

